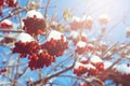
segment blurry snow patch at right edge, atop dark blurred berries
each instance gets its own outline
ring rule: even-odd
[[[119,64],[117,66],[116,70],[121,74],[130,74],[130,67],[127,64]]]

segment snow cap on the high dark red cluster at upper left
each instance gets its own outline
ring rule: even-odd
[[[42,14],[36,10],[31,10],[27,12],[26,17],[34,17],[36,16],[37,18],[43,18]]]

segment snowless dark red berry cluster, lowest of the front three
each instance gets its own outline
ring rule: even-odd
[[[42,69],[44,66],[49,67],[52,62],[55,62],[55,58],[49,55],[47,51],[43,51],[39,55],[30,55],[28,58],[30,59],[29,68],[31,70]]]

